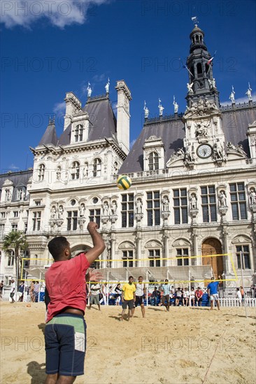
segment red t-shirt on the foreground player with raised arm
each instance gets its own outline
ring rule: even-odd
[[[85,253],[70,260],[56,261],[45,273],[45,283],[50,296],[47,320],[50,321],[65,307],[85,312],[85,274],[90,267]]]

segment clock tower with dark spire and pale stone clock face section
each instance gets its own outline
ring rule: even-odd
[[[190,34],[190,40],[187,109],[183,116],[184,163],[189,169],[200,168],[205,163],[220,166],[227,161],[227,156],[218,90],[213,77],[213,60],[204,43],[204,31],[197,25]]]

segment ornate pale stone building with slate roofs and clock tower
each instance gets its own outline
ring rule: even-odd
[[[125,81],[115,87],[116,117],[108,92],[90,94],[84,107],[69,92],[62,135],[50,121],[31,149],[33,170],[1,175],[1,239],[24,230],[30,267],[51,263],[47,243],[57,234],[68,237],[73,254],[90,248],[86,226],[94,220],[106,242],[100,267],[211,264],[216,276],[232,279],[225,256],[187,257],[232,254],[241,276],[242,251],[245,285],[255,282],[256,103],[232,98],[221,107],[204,32],[195,26],[190,40],[184,114],[176,108],[150,119],[145,110],[129,151]],[[131,177],[128,191],[118,190],[118,174]],[[12,256],[1,251],[2,279],[12,275]]]

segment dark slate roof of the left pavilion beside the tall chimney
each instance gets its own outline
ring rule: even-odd
[[[83,108],[87,112],[92,123],[87,142],[113,138],[117,141],[116,119],[111,103],[106,96],[89,99]],[[65,129],[59,138],[59,145],[69,145],[71,139],[71,124]]]

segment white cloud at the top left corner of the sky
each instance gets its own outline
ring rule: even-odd
[[[96,8],[110,0],[1,0],[1,22],[6,28],[17,25],[31,28],[31,24],[46,17],[52,25],[64,28],[70,24],[84,24],[96,14]]]

